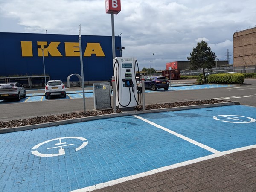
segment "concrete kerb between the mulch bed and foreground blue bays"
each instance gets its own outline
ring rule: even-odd
[[[240,103],[231,101],[231,102],[223,102],[223,103],[191,105],[191,106],[174,107],[174,108],[149,109],[145,111],[127,111],[122,113],[111,113],[111,114],[99,115],[99,116],[88,116],[88,117],[82,117],[77,119],[67,119],[62,121],[47,122],[47,123],[41,123],[37,125],[26,125],[26,126],[20,126],[20,127],[2,128],[0,129],[0,134],[16,132],[16,131],[26,131],[26,130],[32,130],[37,128],[46,128],[46,127],[59,126],[59,125],[66,125],[66,124],[72,124],[77,122],[87,122],[87,121],[93,121],[93,120],[99,120],[99,119],[108,119],[113,117],[139,115],[144,113],[181,111],[181,110],[188,110],[188,109],[210,108],[210,107],[220,107],[220,106],[230,106],[230,105],[240,105]]]

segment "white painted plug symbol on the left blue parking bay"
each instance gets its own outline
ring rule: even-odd
[[[54,144],[56,147],[47,148],[47,149],[60,148],[60,149],[58,150],[58,153],[56,153],[56,154],[44,154],[44,153],[38,152],[38,150],[31,151],[31,152],[32,152],[32,154],[34,154],[34,155],[36,155],[36,156],[39,156],[39,157],[55,157],[55,156],[64,155],[64,154],[65,154],[65,150],[64,150],[63,147],[69,146],[69,145],[74,145],[74,144],[73,144],[73,143],[72,143],[72,144],[67,144],[67,142],[61,142],[61,140],[63,140],[63,139],[78,139],[78,140],[81,140],[83,143],[82,143],[78,148],[75,149],[76,151],[79,151],[80,149],[84,148],[84,147],[88,144],[87,139],[85,139],[85,138],[83,138],[83,137],[60,137],[60,138],[56,138],[56,139],[44,141],[44,142],[42,142],[42,143],[39,143],[38,145],[35,145],[35,146],[32,148],[32,150],[35,150],[35,149],[38,149],[40,146],[42,146],[42,145],[44,145],[44,144],[46,144],[46,143],[49,143],[49,142],[58,140],[59,143],[55,143],[55,144]],[[67,144],[67,145],[66,145],[66,144]]]

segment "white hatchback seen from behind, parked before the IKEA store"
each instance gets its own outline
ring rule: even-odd
[[[45,99],[49,96],[63,96],[66,97],[66,88],[61,80],[49,80],[44,88]]]

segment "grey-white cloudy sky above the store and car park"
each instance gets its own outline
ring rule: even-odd
[[[139,67],[165,69],[167,62],[187,61],[198,41],[220,60],[233,63],[233,34],[256,25],[255,0],[121,0],[114,16],[122,33],[122,56]],[[111,36],[105,0],[0,0],[0,32]]]

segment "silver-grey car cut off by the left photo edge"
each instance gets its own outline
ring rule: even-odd
[[[1,83],[0,100],[16,99],[20,101],[21,97],[26,98],[26,90],[19,83]]]

